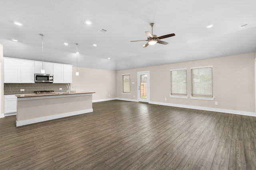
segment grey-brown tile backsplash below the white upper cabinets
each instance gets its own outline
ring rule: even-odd
[[[55,92],[65,92],[68,90],[68,84],[53,84],[47,82],[35,83],[4,83],[4,94],[26,94],[34,93],[34,91],[53,90]],[[62,88],[62,90],[59,90]],[[24,89],[21,92],[20,89]]]

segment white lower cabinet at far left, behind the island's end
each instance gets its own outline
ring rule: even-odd
[[[4,115],[15,115],[17,112],[17,97],[4,95]]]

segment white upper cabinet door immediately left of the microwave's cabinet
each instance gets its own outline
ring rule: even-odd
[[[34,83],[35,77],[35,67],[34,67],[34,61],[28,61],[28,60],[20,60],[20,82],[21,83]]]

